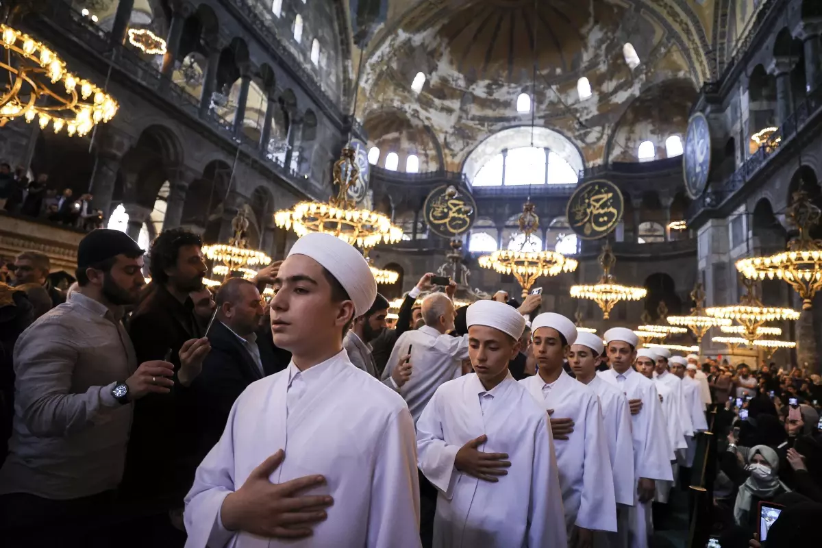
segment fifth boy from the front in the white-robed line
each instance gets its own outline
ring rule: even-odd
[[[608,360],[612,369],[598,375],[617,386],[626,398],[631,412],[631,434],[634,438],[634,466],[637,486],[634,506],[629,512],[630,548],[646,548],[651,527],[651,501],[656,480],[673,481],[673,449],[667,439],[665,418],[659,394],[652,380],[633,370],[639,338],[630,329],[616,327],[604,334]]]

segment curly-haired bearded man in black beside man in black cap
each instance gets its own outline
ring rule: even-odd
[[[175,534],[173,523],[180,543],[182,498],[197,464],[192,430],[196,408],[187,398],[187,387],[210,350],[190,297],[202,287],[206,272],[201,246],[199,236],[182,228],[155,238],[149,260],[156,288],[134,311],[129,325],[138,360],[173,363],[174,388],[169,394],[151,394],[136,405],[122,494],[139,506],[136,512],[156,514],[153,523],[136,527],[139,532],[156,531],[157,536],[170,538]],[[164,545],[147,536],[139,546]]]

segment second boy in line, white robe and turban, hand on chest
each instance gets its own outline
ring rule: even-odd
[[[466,323],[475,372],[440,385],[417,421],[419,468],[439,492],[433,546],[564,548],[548,417],[508,371],[525,319],[478,301]]]

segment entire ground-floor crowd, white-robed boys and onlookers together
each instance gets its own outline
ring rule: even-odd
[[[585,333],[539,295],[457,309],[433,274],[389,328],[321,233],[212,293],[201,246],[98,229],[67,296],[31,252],[0,280],[4,546],[643,548],[706,431],[719,546],[759,542],[760,502],[762,546],[815,546],[818,375]]]

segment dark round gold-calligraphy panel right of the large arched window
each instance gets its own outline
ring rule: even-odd
[[[622,219],[625,200],[617,185],[594,179],[580,185],[568,200],[568,225],[578,237],[596,240],[607,236]]]

